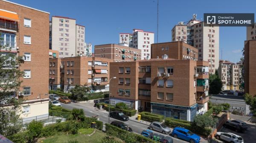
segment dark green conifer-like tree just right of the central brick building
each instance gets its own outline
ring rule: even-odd
[[[218,94],[221,92],[222,82],[218,76],[218,71],[215,70],[215,74],[210,74],[209,76],[209,93]]]

